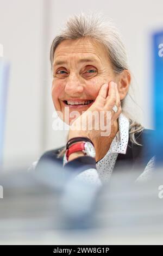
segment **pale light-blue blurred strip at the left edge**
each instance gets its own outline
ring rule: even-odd
[[[5,127],[5,108],[7,105],[9,64],[0,58],[0,168],[2,166],[4,127]]]

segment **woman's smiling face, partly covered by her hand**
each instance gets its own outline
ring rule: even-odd
[[[53,60],[52,99],[57,111],[82,114],[95,101],[102,84],[115,81],[105,47],[95,40],[66,39]],[[116,81],[115,81],[116,82]],[[72,121],[72,120],[69,120]]]

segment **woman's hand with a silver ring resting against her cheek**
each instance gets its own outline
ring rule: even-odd
[[[112,110],[117,106],[117,112]],[[121,102],[117,84],[103,84],[95,102],[80,115],[70,126],[68,139],[78,136],[88,137],[95,141],[100,136],[111,134],[112,124],[121,114]]]

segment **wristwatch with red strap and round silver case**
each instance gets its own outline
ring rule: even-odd
[[[79,142],[79,143],[74,143],[70,145],[68,149],[66,149],[66,159],[68,161],[68,157],[77,151],[82,151],[84,155],[95,157],[96,156],[96,151],[95,148],[93,147],[91,142]]]

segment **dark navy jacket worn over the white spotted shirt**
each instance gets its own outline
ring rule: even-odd
[[[129,172],[133,172],[136,169],[135,179],[143,172],[147,163],[154,156],[154,151],[152,147],[152,137],[154,135],[154,130],[144,129],[142,132],[136,133],[136,141],[141,144],[137,145],[128,141],[126,154],[118,154],[113,174],[120,172],[122,169],[128,169]],[[40,164],[44,160],[51,160],[54,163],[58,162],[62,164],[63,157],[58,158],[58,154],[62,148],[53,149],[46,151],[38,161],[36,169],[39,168]],[[96,161],[89,156],[78,157],[73,161],[66,164],[67,167],[72,170],[75,169],[77,173],[83,172],[83,170],[96,168]],[[139,168],[137,168],[139,167]]]

